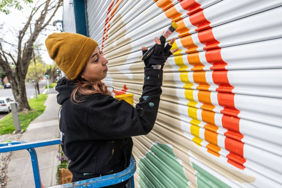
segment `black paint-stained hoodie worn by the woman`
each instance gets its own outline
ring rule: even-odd
[[[143,92],[136,107],[98,93],[73,103],[70,95],[75,82],[65,77],[58,81],[61,147],[71,161],[69,170],[75,180],[124,170],[131,157],[131,136],[145,135],[153,129],[163,70],[144,68],[144,74]]]

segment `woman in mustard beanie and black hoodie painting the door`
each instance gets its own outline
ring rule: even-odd
[[[136,107],[113,98],[102,79],[108,60],[98,43],[73,33],[54,33],[45,44],[51,59],[65,72],[56,86],[59,92],[61,147],[70,159],[72,182],[123,171],[129,165],[131,136],[148,134],[154,126],[166,59],[170,51],[155,37],[157,47],[144,61],[144,85]],[[122,50],[122,49],[120,49]],[[143,54],[147,51],[142,47]],[[127,181],[109,187],[125,187]]]

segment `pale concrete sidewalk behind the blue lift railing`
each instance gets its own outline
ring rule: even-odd
[[[49,94],[44,105],[45,111],[33,120],[19,139],[19,141],[32,142],[60,138],[58,112],[60,105],[57,103],[57,94]],[[56,185],[56,159],[59,145],[36,148],[41,182],[44,187]],[[32,188],[34,178],[30,154],[27,150],[12,152],[8,164],[7,188]]]

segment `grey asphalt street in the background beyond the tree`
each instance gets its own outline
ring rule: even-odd
[[[47,89],[45,89],[45,85],[47,85],[46,80],[40,80],[39,81],[39,92],[40,94],[42,94],[45,90],[45,93],[57,93],[57,91],[55,90],[55,88],[53,89],[49,89],[49,92],[47,91]],[[33,98],[35,97],[35,89],[34,86],[32,85],[32,83],[25,83],[25,89],[27,92],[27,98]],[[14,96],[13,96],[13,92],[11,88],[8,89],[0,89],[0,97],[7,97],[10,98],[11,100],[14,100]],[[0,112],[0,118],[6,116],[7,113],[6,112]]]

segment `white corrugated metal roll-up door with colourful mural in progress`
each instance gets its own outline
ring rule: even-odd
[[[282,187],[282,1],[87,1],[114,94],[142,94],[141,47],[175,21],[136,187]]]

